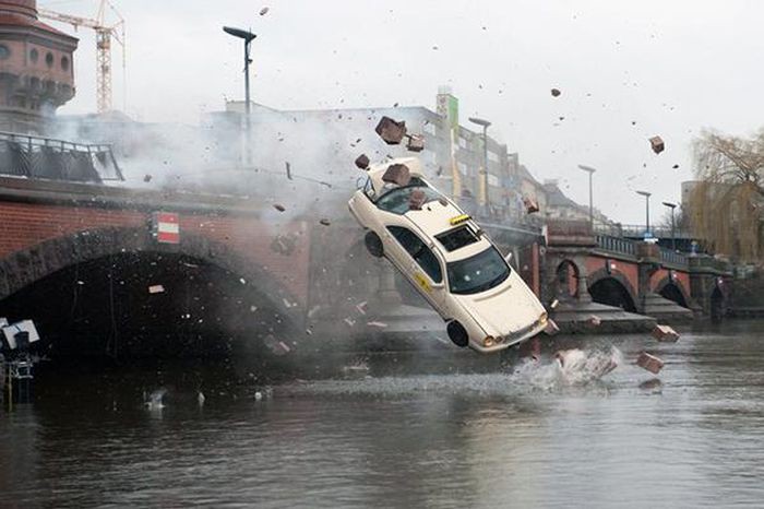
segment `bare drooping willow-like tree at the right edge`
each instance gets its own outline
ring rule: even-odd
[[[713,252],[741,260],[764,256],[764,130],[752,138],[704,131],[694,142],[699,182],[687,213]]]

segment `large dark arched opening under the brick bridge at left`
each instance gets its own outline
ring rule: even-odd
[[[179,253],[122,252],[67,267],[0,301],[0,317],[34,320],[33,353],[56,365],[267,356],[289,320],[256,282]],[[294,331],[293,331],[294,332]]]

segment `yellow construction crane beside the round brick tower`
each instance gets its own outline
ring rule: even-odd
[[[106,14],[111,11],[117,23],[107,24]],[[100,0],[95,19],[73,16],[48,9],[39,9],[39,16],[47,20],[70,24],[74,29],[81,26],[93,28],[96,33],[96,90],[98,94],[98,113],[111,110],[111,40],[122,46],[122,70],[127,68],[124,19],[109,0]],[[127,93],[126,93],[127,94]]]

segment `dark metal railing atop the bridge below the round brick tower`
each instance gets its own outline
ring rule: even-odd
[[[73,182],[124,180],[110,145],[2,131],[0,175]]]

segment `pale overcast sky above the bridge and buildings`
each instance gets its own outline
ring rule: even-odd
[[[702,128],[748,134],[762,125],[764,2],[754,0],[112,1],[128,22],[127,111],[138,119],[193,125],[240,98],[241,48],[220,26],[251,27],[254,100],[434,109],[447,84],[463,119],[490,119],[534,175],[560,179],[574,200],[588,201],[577,165],[597,168],[595,206],[624,223],[644,222],[636,189],[654,193],[656,216],[661,201],[679,200]],[[39,1],[91,16],[97,3]],[[75,35],[68,114],[95,109],[95,43]],[[121,70],[115,91],[121,109]],[[656,134],[660,155],[647,141]]]

